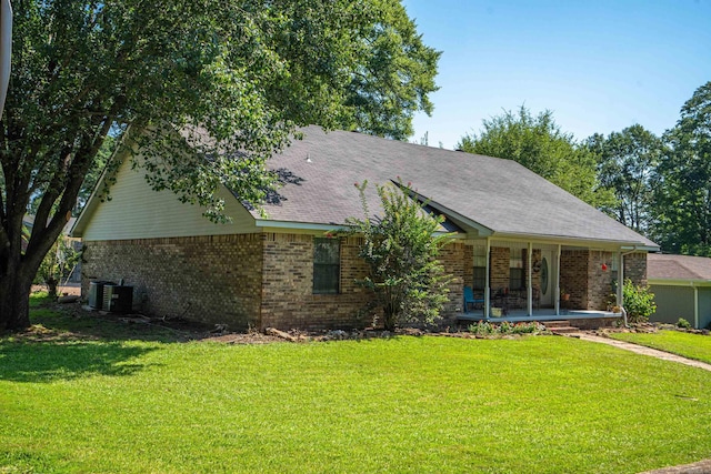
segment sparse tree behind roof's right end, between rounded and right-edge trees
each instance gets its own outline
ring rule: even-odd
[[[663,151],[662,141],[640,124],[594,134],[587,141],[598,155],[598,179],[614,192],[615,202],[604,209],[624,225],[647,234],[650,228],[651,177]]]

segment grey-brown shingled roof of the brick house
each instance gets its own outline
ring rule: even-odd
[[[301,129],[268,163],[283,188],[264,206],[268,220],[342,224],[362,215],[354,183],[411,183],[433,208],[474,232],[499,236],[657,244],[512,160],[470,154],[367,134]],[[378,202],[374,186],[369,200]],[[259,212],[251,211],[263,220]]]

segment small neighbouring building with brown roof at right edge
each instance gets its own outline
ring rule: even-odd
[[[683,317],[695,329],[711,329],[711,259],[650,254],[648,282],[657,303],[650,321],[677,324]]]

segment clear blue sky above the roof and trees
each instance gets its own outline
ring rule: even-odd
[[[553,111],[583,140],[633,123],[661,134],[711,81],[711,0],[404,0],[424,43],[443,51],[432,117],[411,141],[453,149],[482,120]]]

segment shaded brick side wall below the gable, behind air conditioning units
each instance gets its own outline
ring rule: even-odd
[[[91,280],[133,286],[133,307],[158,316],[259,325],[259,234],[87,242],[82,294]]]

